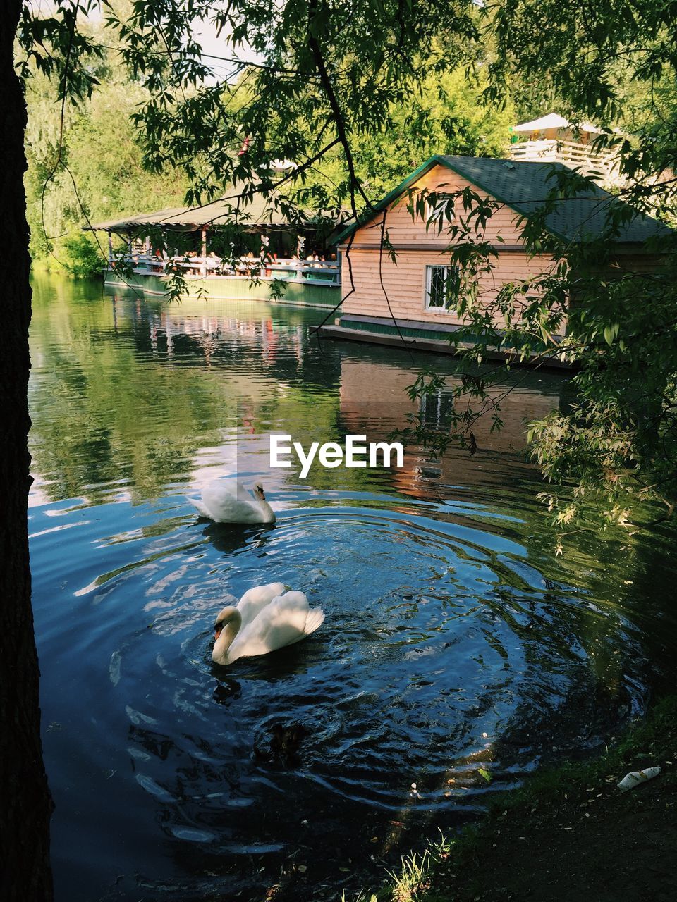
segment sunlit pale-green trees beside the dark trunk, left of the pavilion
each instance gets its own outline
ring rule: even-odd
[[[181,171],[144,169],[131,115],[147,93],[128,78],[114,53],[97,64],[92,96],[65,107],[60,147],[60,105],[44,76],[27,82],[26,194],[33,261],[74,275],[101,271],[107,247],[86,234],[87,222],[116,219],[162,207],[180,207],[188,189]],[[62,165],[55,167],[61,158]]]

